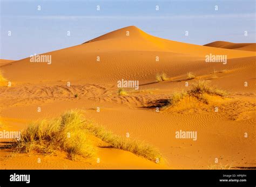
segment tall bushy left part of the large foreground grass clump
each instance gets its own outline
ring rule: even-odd
[[[71,160],[75,160],[76,155],[92,157],[95,155],[95,148],[83,129],[81,114],[69,111],[60,118],[30,124],[12,147],[20,153],[36,151],[52,154],[56,150],[64,150]]]

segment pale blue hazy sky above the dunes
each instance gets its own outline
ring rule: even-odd
[[[255,0],[0,2],[0,59],[19,60],[79,45],[130,25],[156,37],[197,45],[256,40]]]

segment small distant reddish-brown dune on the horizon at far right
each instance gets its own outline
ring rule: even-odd
[[[256,44],[255,43],[232,43],[227,41],[214,41],[210,44],[205,44],[204,46],[208,47],[218,47],[218,48],[225,48],[225,49],[235,49],[235,50],[242,50],[242,51],[256,51]]]

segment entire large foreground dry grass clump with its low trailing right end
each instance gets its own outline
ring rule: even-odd
[[[106,131],[104,127],[86,120],[79,111],[68,111],[60,118],[30,124],[21,132],[21,139],[15,140],[11,147],[19,153],[36,151],[52,154],[55,150],[62,150],[75,160],[76,155],[88,158],[96,154],[89,135],[109,143],[111,148],[127,150],[154,162],[161,159],[158,150],[152,146]]]

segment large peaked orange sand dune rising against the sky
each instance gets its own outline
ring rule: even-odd
[[[238,52],[161,39],[135,26],[129,26],[82,45],[45,53],[44,55],[51,55],[51,64],[31,63],[28,57],[5,64],[2,69],[4,76],[15,82],[63,80],[73,83],[113,83],[124,77],[144,81],[147,76],[154,77],[157,71],[165,70],[177,76],[180,73],[186,74],[187,71],[218,67],[220,64],[208,66],[205,63],[205,55],[210,53],[227,55],[228,59],[255,55],[253,52]],[[156,56],[159,56],[157,66]],[[179,68],[179,72],[176,68]]]

